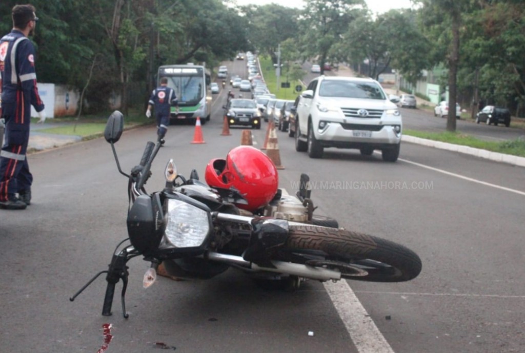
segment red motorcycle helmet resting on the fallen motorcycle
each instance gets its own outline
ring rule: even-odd
[[[211,187],[239,190],[248,205],[238,204],[237,207],[252,212],[271,201],[279,185],[275,164],[251,146],[233,148],[226,159],[212,159],[204,176]]]

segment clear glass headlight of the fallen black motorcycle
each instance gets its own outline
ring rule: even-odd
[[[164,239],[176,248],[199,247],[209,232],[208,213],[186,202],[167,201]]]

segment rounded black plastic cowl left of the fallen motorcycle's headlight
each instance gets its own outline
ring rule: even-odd
[[[155,251],[164,233],[164,213],[159,194],[137,197],[128,212],[127,223],[133,247],[144,255]]]

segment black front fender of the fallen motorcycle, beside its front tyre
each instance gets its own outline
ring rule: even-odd
[[[259,266],[275,268],[271,256],[288,239],[288,221],[275,218],[256,218],[251,222],[251,233],[248,248],[243,254],[246,261]]]

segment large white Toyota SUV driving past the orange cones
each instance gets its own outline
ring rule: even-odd
[[[379,82],[369,78],[313,79],[297,104],[296,151],[321,158],[324,147],[358,148],[363,155],[381,149],[397,161],[402,120]]]

